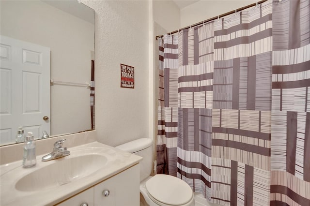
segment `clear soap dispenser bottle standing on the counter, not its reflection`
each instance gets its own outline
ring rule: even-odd
[[[29,168],[37,164],[35,156],[35,142],[32,132],[28,132],[24,143],[23,167]]]

